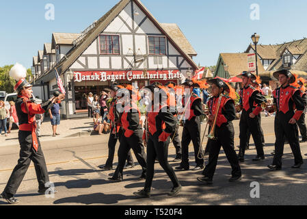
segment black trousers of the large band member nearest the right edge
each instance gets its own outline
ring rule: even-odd
[[[284,154],[284,136],[289,140],[289,144],[294,155],[295,164],[303,162],[301,149],[299,147],[299,137],[297,125],[289,124],[289,120],[293,117],[293,114],[283,114],[278,112],[274,121],[274,129],[276,131],[275,142],[275,155],[273,158],[273,165],[282,167],[282,155]]]

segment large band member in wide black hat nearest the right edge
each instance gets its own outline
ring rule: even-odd
[[[281,170],[284,136],[289,140],[295,158],[295,164],[292,168],[300,168],[303,164],[303,158],[299,149],[298,130],[295,123],[302,116],[304,101],[300,95],[300,90],[289,85],[295,82],[295,77],[289,70],[278,70],[273,73],[273,76],[279,80],[281,86],[273,91],[275,106],[273,109],[271,107],[267,109],[269,112],[276,111],[274,122],[276,132],[275,155],[273,164],[269,165],[268,168]]]

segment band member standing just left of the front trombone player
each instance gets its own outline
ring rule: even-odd
[[[202,99],[196,94],[193,94],[193,88],[199,87],[197,83],[193,83],[187,79],[183,83],[185,89],[189,89],[191,94],[189,101],[187,101],[187,110],[184,112],[185,125],[183,127],[183,137],[181,140],[183,159],[177,170],[189,170],[189,144],[192,141],[194,146],[194,156],[196,167],[193,170],[201,170],[204,168],[204,159],[198,158],[198,151],[200,148],[200,116],[202,112]]]

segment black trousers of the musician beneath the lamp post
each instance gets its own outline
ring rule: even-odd
[[[254,139],[254,143],[256,146],[257,156],[263,157],[265,155],[263,151],[263,140],[261,135],[261,122],[260,122],[260,114],[255,118],[250,118],[250,110],[246,112],[245,110],[242,111],[241,119],[239,123],[240,127],[240,150],[239,150],[239,157],[244,158],[245,155],[245,148],[248,145],[248,131],[252,133],[252,138]]]

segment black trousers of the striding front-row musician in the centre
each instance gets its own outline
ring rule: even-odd
[[[147,172],[144,186],[146,191],[150,191],[152,185],[156,157],[158,157],[159,164],[168,174],[168,177],[170,177],[174,187],[180,185],[172,166],[168,163],[168,145],[170,144],[170,138],[166,142],[159,142],[158,137],[157,133],[153,136],[150,135],[147,142]]]

